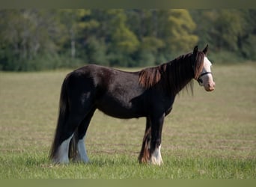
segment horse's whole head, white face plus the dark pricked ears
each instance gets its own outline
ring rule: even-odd
[[[208,45],[204,48],[204,64],[202,64],[202,68],[200,73],[198,73],[198,76],[195,77],[195,79],[198,81],[199,85],[204,86],[204,89],[206,91],[214,91],[215,82],[213,81],[213,73],[211,71],[212,63],[207,58],[207,50]],[[193,55],[198,54],[198,47],[195,46]],[[202,63],[202,62],[201,62]]]

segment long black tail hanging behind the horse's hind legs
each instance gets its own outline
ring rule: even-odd
[[[68,82],[68,76],[66,79],[64,79],[64,82],[62,83],[61,86],[61,96],[60,96],[60,101],[59,101],[59,114],[58,114],[58,123],[57,127],[55,130],[55,138],[54,141],[52,142],[52,147],[49,153],[49,158],[50,159],[55,159],[57,156],[57,151],[58,147],[62,143],[61,141],[61,134],[64,129],[64,123],[67,120],[67,116],[69,114],[68,111],[68,101],[67,101],[67,82]]]

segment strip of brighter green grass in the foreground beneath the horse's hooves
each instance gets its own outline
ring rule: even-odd
[[[1,156],[2,178],[76,179],[226,179],[253,178],[255,161],[170,156],[165,165],[139,165],[134,156],[113,154],[91,156],[91,163],[51,165],[45,154],[23,153]]]

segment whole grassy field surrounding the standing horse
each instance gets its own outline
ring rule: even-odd
[[[69,71],[0,72],[0,179],[256,179],[256,64],[216,65],[216,90],[195,82],[162,130],[164,165],[138,164],[145,119],[94,114],[88,165],[52,165],[61,83]]]

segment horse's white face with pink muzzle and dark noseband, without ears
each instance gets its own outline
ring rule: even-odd
[[[215,82],[213,81],[213,74],[211,71],[212,63],[208,58],[204,57],[204,67],[198,78],[198,83],[201,86],[204,86],[206,91],[214,91]]]

